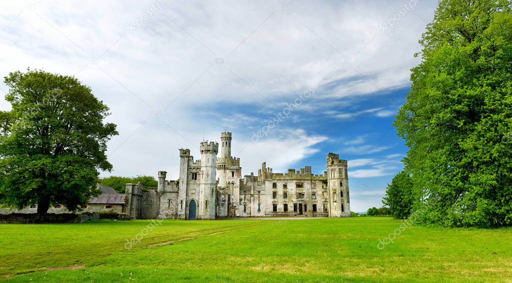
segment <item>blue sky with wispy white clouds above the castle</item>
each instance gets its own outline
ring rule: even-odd
[[[407,152],[392,126],[434,1],[2,1],[0,74],[74,75],[118,125],[112,173],[178,176],[178,148],[233,133],[243,173],[327,153],[349,161],[351,209],[381,206]],[[7,92],[0,83],[0,94]],[[310,91],[311,96],[304,94]],[[314,93],[313,93],[314,91]],[[301,97],[301,94],[303,95]],[[298,100],[297,100],[298,99]],[[269,124],[289,106],[293,111]],[[10,105],[0,99],[0,108]],[[268,127],[254,142],[253,133]]]

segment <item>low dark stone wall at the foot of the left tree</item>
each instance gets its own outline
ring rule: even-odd
[[[39,223],[82,223],[98,219],[133,220],[134,218],[124,213],[10,213],[0,214],[0,223],[15,224],[39,224]]]

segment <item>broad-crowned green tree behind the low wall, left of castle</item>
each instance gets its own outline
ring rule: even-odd
[[[109,108],[75,77],[29,69],[4,82],[12,110],[3,114],[10,120],[0,141],[0,203],[37,204],[39,214],[53,204],[76,210],[97,192],[98,170],[112,169]]]

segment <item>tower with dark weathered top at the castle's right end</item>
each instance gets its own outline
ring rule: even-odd
[[[338,154],[329,153],[327,155],[327,182],[329,216],[350,216],[347,160],[340,160]]]

